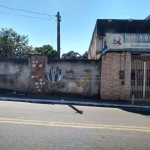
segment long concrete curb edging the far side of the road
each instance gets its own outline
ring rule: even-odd
[[[11,98],[11,97],[0,97],[0,100],[1,101],[45,103],[45,104],[74,104],[74,105],[82,105],[82,106],[125,107],[125,108],[150,109],[150,106],[141,106],[141,105],[110,104],[110,103],[67,101],[67,100],[43,100],[43,99],[27,99],[27,98]]]

